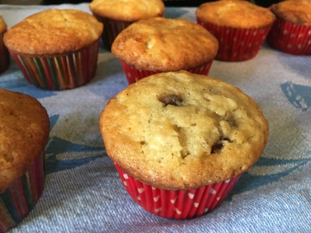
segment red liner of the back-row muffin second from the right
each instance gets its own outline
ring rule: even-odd
[[[197,23],[205,27],[218,40],[219,50],[216,59],[230,62],[255,57],[272,26],[239,29],[205,23],[198,18]]]

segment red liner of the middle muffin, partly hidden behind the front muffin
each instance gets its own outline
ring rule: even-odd
[[[150,75],[158,74],[161,72],[157,71],[144,71],[144,70],[139,70],[136,69],[133,66],[128,65],[126,62],[120,59],[121,65],[123,67],[124,73],[126,75],[126,78],[128,79],[128,83],[132,84],[137,82],[138,80],[148,77]],[[199,66],[197,68],[189,69],[188,72],[193,73],[193,74],[199,74],[199,75],[207,75],[208,72],[210,71],[212,62],[207,62],[203,66]]]

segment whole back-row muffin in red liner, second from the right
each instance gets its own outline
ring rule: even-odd
[[[203,3],[196,16],[219,41],[216,59],[232,62],[255,57],[275,20],[268,9],[241,0]]]

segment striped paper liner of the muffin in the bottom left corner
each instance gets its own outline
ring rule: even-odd
[[[26,173],[0,194],[0,233],[16,226],[34,208],[44,189],[44,152]]]

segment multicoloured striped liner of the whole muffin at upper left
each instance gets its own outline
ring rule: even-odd
[[[56,57],[30,57],[10,51],[25,78],[42,89],[64,90],[90,81],[96,72],[99,40],[86,48]]]

